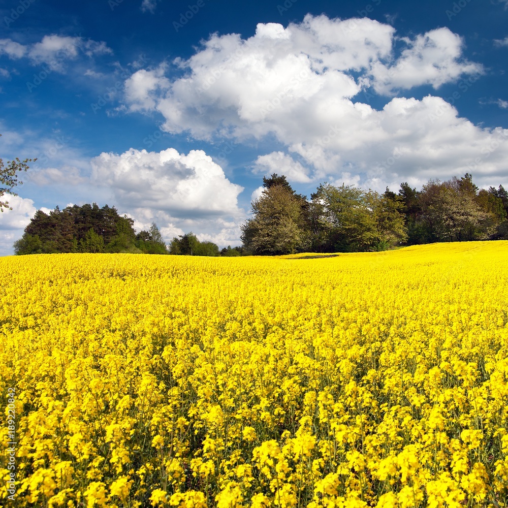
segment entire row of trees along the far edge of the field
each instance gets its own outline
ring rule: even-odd
[[[136,233],[134,220],[114,207],[73,205],[38,210],[14,243],[17,255],[57,252],[130,252],[184,256],[281,255],[294,252],[387,250],[402,245],[508,239],[508,193],[480,189],[466,173],[421,190],[407,182],[398,193],[322,183],[310,200],[284,175],[263,178],[252,217],[241,227],[242,245],[219,250],[192,232],[166,246],[153,223]]]

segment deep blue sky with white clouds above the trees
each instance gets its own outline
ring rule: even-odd
[[[115,206],[219,246],[263,175],[508,187],[508,0],[4,1],[0,156],[38,157],[0,215]]]

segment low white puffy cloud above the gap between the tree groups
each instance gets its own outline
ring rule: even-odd
[[[101,153],[91,161],[91,180],[111,189],[120,211],[136,217],[137,229],[155,221],[167,241],[188,231],[200,239],[237,243],[245,212],[238,208],[243,187],[231,183],[202,150],[187,155],[130,149]]]

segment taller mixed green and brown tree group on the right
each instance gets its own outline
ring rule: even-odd
[[[284,175],[264,177],[263,187],[242,226],[244,251],[254,255],[508,239],[508,193],[502,185],[480,189],[469,173],[429,180],[420,191],[404,182],[397,194],[323,183],[310,200]]]

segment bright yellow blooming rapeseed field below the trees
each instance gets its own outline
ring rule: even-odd
[[[508,505],[507,241],[0,276],[10,506]]]

